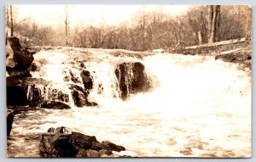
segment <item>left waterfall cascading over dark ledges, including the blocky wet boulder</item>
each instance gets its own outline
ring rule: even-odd
[[[32,72],[32,77],[48,83],[34,85],[39,91],[29,87],[28,93],[35,90],[42,96],[41,100],[82,107],[90,102],[101,104],[108,99],[127,100],[133,94],[149,91],[152,85],[142,59],[125,57],[108,53],[77,53],[65,48],[39,52],[34,55],[38,69]],[[76,87],[75,92],[73,87]],[[32,100],[33,95],[27,94],[27,97]]]

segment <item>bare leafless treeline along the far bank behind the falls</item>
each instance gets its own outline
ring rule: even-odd
[[[218,6],[217,9],[218,13],[215,15],[214,10],[209,10],[209,6],[195,6],[180,16],[164,14],[160,10],[141,10],[119,26],[110,26],[102,22],[99,26],[86,25],[72,29],[67,23],[68,19],[60,26],[42,26],[24,20],[15,25],[15,32],[28,38],[26,43],[30,46],[102,47],[135,51],[154,48],[172,50],[176,47],[209,42],[212,22],[210,19],[214,20],[215,15],[214,42],[247,35],[247,6]]]

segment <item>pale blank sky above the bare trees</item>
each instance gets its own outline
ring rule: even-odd
[[[64,23],[65,7],[67,5],[15,5],[18,9],[18,19],[30,18],[43,25],[58,25]],[[102,20],[108,25],[119,25],[130,18],[131,14],[145,8],[153,11],[160,8],[166,14],[183,14],[187,5],[69,5],[70,25],[98,25]]]

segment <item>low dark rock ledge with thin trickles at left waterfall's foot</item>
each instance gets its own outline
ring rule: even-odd
[[[97,103],[88,101],[89,90],[73,84],[67,84],[74,104],[77,107],[96,106]],[[67,92],[51,86],[49,81],[36,78],[7,77],[7,105],[44,107],[48,109],[69,109],[67,106],[72,98]],[[62,104],[63,103],[63,104]]]

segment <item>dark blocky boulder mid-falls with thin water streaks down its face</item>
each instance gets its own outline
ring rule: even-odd
[[[144,70],[140,62],[118,64],[114,72],[119,81],[120,98],[125,100],[131,94],[150,89],[150,81]]]

